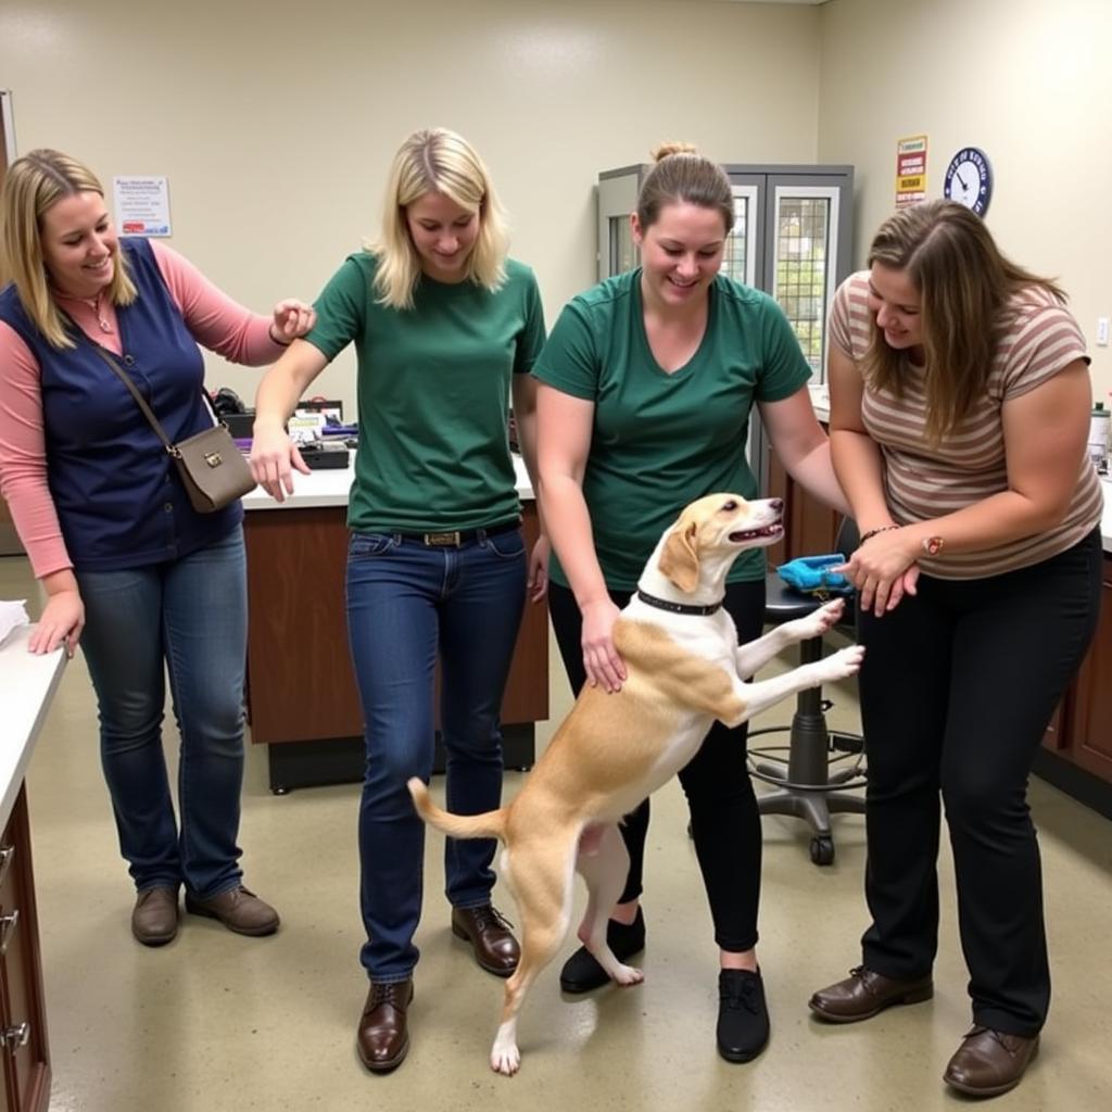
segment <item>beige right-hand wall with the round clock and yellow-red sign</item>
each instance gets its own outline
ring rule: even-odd
[[[820,8],[818,158],[856,167],[856,258],[894,208],[895,142],[930,138],[927,193],[966,145],[992,162],[989,226],[1015,260],[1061,278],[1112,389],[1112,3],[832,0]]]

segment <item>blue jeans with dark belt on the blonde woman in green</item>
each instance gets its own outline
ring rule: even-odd
[[[525,605],[520,532],[426,548],[391,534],[355,534],[348,549],[348,637],[363,703],[367,767],[359,805],[360,961],[375,981],[417,964],[425,824],[406,788],[433,773],[434,673],[440,659],[440,736],[447,804],[480,814],[502,800],[498,712]],[[487,903],[495,843],[445,847],[448,900]]]

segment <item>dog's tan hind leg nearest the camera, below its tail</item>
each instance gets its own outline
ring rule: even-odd
[[[490,1048],[490,1069],[507,1078],[522,1062],[517,1046],[517,1016],[533,982],[556,956],[572,922],[574,838],[516,844],[502,856],[502,876],[517,902],[522,920],[522,956],[506,982],[502,1023]]]

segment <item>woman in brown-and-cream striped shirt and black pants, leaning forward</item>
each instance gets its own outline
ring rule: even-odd
[[[954,1089],[1019,1083],[1050,1001],[1026,782],[1095,627],[1101,489],[1084,339],[1052,282],[952,201],[903,209],[831,320],[831,449],[862,545],[872,925],[834,1022],[933,993],[940,795],[973,1027]]]

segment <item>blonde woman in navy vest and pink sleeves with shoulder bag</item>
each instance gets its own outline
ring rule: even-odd
[[[47,595],[32,652],[78,641],[97,693],[100,746],[138,893],[135,937],[177,934],[186,910],[240,934],[278,914],[242,886],[247,584],[242,508],[199,514],[119,376],[170,439],[211,426],[203,344],[270,363],[312,311],[236,305],[180,255],[119,239],[100,182],[56,150],[8,170],[2,198],[0,492]],[[108,366],[115,363],[118,370]],[[166,676],[181,734],[180,828],[166,758]]]

